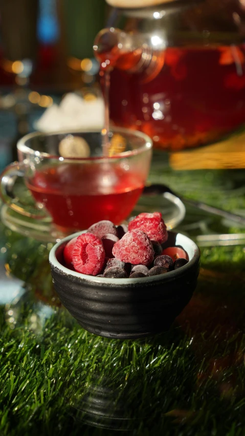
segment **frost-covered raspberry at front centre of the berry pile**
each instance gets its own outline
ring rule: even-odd
[[[116,259],[133,265],[150,265],[154,251],[148,236],[142,230],[131,230],[113,247]]]

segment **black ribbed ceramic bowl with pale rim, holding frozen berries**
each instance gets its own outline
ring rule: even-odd
[[[166,274],[143,278],[104,278],[64,267],[63,248],[81,232],[56,244],[50,252],[53,283],[64,307],[88,332],[117,339],[135,339],[169,328],[196,287],[200,253],[181,233],[169,232],[168,246],[182,246],[189,262]]]

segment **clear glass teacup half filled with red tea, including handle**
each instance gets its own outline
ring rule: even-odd
[[[32,219],[49,217],[61,234],[84,230],[100,220],[123,222],[137,203],[148,176],[152,141],[143,133],[114,128],[108,156],[99,131],[25,136],[17,144],[18,162],[1,176],[1,197]],[[23,177],[34,208],[14,194]]]

